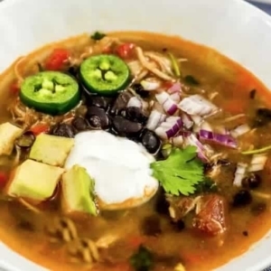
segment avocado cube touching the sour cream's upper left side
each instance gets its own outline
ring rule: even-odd
[[[36,137],[29,158],[44,164],[63,166],[73,145],[73,138],[40,134]]]

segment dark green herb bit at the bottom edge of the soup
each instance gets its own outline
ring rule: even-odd
[[[141,245],[130,257],[130,264],[135,271],[150,271],[154,266],[154,256],[149,249]]]

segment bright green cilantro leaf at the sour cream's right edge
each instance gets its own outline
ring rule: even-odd
[[[164,161],[151,164],[153,176],[164,187],[164,191],[178,196],[196,192],[196,185],[204,182],[203,164],[197,158],[196,147],[174,148]]]

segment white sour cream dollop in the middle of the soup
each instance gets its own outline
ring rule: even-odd
[[[84,167],[95,180],[99,207],[117,210],[143,204],[157,192],[152,162],[154,157],[134,141],[105,131],[87,131],[75,136],[65,168]]]

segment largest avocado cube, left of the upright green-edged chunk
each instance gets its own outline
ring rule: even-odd
[[[7,187],[7,194],[44,201],[52,196],[63,172],[64,169],[60,167],[28,159],[15,170]]]

